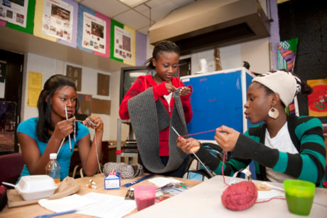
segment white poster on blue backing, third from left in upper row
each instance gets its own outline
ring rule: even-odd
[[[88,14],[83,13],[82,47],[100,53],[106,52],[107,22]]]

